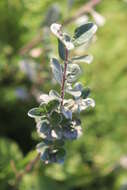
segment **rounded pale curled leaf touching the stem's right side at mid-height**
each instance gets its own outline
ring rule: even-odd
[[[69,83],[75,82],[80,74],[81,70],[79,65],[77,64],[67,65],[67,82]]]

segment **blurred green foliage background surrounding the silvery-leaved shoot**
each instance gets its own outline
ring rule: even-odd
[[[106,22],[87,51],[93,63],[81,65],[80,81],[96,101],[81,115],[83,136],[66,145],[63,165],[39,161],[15,185],[40,140],[27,112],[40,93],[58,88],[49,65],[58,55],[57,40],[48,26],[52,19],[63,23],[86,2],[0,0],[0,190],[127,190],[126,0],[102,0],[94,8]],[[65,28],[72,33],[76,26],[74,21]]]

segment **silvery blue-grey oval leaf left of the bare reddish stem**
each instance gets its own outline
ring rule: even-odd
[[[60,65],[59,61],[56,58],[51,59],[51,68],[52,68],[52,72],[54,74],[55,80],[59,84],[61,84],[62,83],[62,76],[63,76],[62,66]]]

